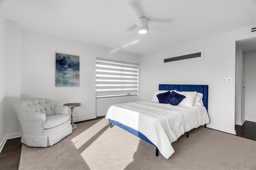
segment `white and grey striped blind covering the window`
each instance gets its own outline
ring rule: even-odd
[[[138,66],[96,58],[96,98],[137,95]]]

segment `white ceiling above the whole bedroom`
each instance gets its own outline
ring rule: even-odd
[[[24,29],[135,54],[256,25],[255,7],[256,0],[1,0],[5,18]],[[149,18],[148,33],[130,31],[134,14]]]

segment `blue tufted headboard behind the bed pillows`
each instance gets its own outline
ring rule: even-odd
[[[208,111],[208,85],[159,84],[159,90],[178,90],[180,92],[199,92],[203,94],[204,107]]]

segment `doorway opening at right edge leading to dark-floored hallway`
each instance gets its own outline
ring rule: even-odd
[[[256,134],[256,37],[236,41],[235,129],[237,135]],[[252,139],[256,140],[256,139]]]

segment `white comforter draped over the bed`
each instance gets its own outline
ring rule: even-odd
[[[209,123],[204,106],[172,106],[157,102],[116,104],[108,109],[105,118],[145,135],[166,159],[174,153],[172,142],[185,132]]]

